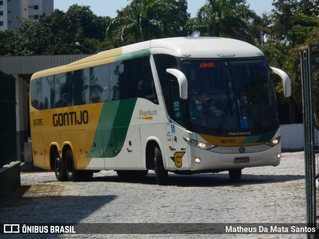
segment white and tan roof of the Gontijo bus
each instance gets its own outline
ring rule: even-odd
[[[235,39],[222,37],[173,37],[139,42],[128,46],[119,47],[72,62],[65,66],[55,67],[36,72],[31,79],[69,72],[86,67],[102,65],[122,60],[125,54],[131,54],[126,58],[135,58],[137,52],[144,54],[169,54],[177,57],[189,58],[243,58],[264,56],[257,47]]]

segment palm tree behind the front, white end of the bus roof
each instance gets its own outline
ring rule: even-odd
[[[255,27],[260,17],[246,0],[207,0],[190,21],[199,36],[230,37],[254,43],[259,37]]]

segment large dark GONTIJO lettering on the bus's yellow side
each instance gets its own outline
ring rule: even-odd
[[[77,124],[87,124],[89,122],[88,111],[66,112],[53,114],[53,126],[68,126]]]

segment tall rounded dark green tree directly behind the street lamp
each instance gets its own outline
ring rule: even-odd
[[[49,54],[79,54],[91,52],[76,47],[76,41],[94,52],[101,50],[100,46],[111,18],[96,16],[89,6],[74,4],[65,13],[55,9],[40,20],[50,29],[51,41],[54,43],[49,47]]]

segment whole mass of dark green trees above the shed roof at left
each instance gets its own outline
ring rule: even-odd
[[[62,55],[98,52],[110,44],[104,41],[111,18],[96,16],[89,6],[74,4],[66,12],[55,9],[38,21],[19,19],[21,27],[0,33],[1,55]]]

